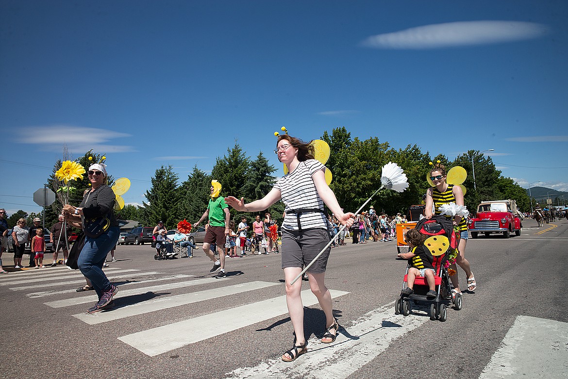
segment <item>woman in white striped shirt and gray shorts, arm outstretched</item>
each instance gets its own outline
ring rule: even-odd
[[[304,308],[300,291],[302,281],[291,285],[291,281],[329,242],[327,218],[323,205],[328,206],[337,220],[347,227],[353,224],[353,213],[344,213],[333,191],[325,182],[325,166],[314,159],[314,147],[284,134],[278,136],[277,149],[279,161],[286,164],[288,174],[283,176],[272,190],[261,200],[245,204],[244,198],[225,197],[225,203],[236,210],[258,212],[282,200],[286,205],[282,223],[282,268],[286,280],[286,304],[294,327],[294,346],[282,355],[282,360],[290,362],[307,352],[304,336]],[[328,247],[324,254],[308,269],[310,289],[318,298],[325,313],[326,331],[322,343],[332,343],[337,336],[339,325],[333,317],[331,294],[325,287],[325,268],[329,257]]]

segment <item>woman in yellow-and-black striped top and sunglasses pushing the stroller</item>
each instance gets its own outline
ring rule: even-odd
[[[437,163],[434,166],[434,169],[430,171],[430,179],[436,187],[428,188],[428,191],[426,191],[426,209],[424,210],[426,218],[432,218],[432,206],[434,212],[436,214],[440,214],[441,212],[439,208],[443,204],[456,203],[457,205],[463,205],[463,191],[460,186],[454,186],[454,184],[446,183],[446,169],[444,165]],[[473,272],[471,272],[469,261],[465,259],[465,245],[467,243],[467,224],[465,218],[456,215],[453,219],[453,224],[454,226],[458,226],[461,237],[460,245],[458,245],[458,251],[460,254],[456,257],[456,263],[460,265],[463,271],[465,271],[467,289],[474,291],[475,288],[477,288],[477,284],[475,283]],[[451,268],[455,270],[456,265],[453,264]],[[452,289],[452,295],[454,295],[454,293],[461,293],[457,271],[456,275],[450,276],[450,279],[452,279],[452,285],[454,287]]]

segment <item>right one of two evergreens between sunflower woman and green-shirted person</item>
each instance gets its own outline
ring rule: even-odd
[[[178,214],[180,221],[184,218],[195,224],[207,209],[210,197],[211,176],[199,170],[197,165],[181,184],[181,201]]]

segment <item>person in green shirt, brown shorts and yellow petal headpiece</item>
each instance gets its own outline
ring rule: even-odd
[[[225,204],[225,199],[220,195],[221,183],[217,180],[211,181],[211,199],[207,205],[207,209],[203,213],[203,216],[199,218],[195,228],[203,221],[206,217],[209,220],[209,226],[205,233],[205,238],[203,239],[203,251],[211,260],[215,262],[213,268],[210,269],[210,273],[215,273],[219,271],[216,279],[221,279],[225,277],[225,252],[223,247],[225,246],[225,241],[227,235],[229,234],[229,220],[231,220],[231,213],[229,212],[229,207]],[[219,252],[219,259],[215,258],[214,252],[210,249],[212,243],[216,243],[217,251]]]

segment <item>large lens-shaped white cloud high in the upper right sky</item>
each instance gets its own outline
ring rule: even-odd
[[[377,49],[440,49],[542,37],[549,28],[521,21],[461,21],[432,24],[367,37],[361,46]]]

